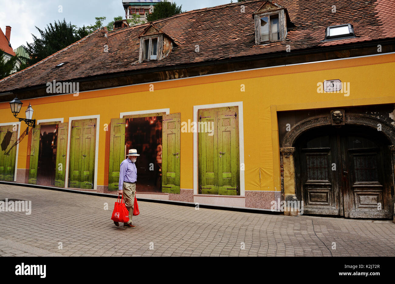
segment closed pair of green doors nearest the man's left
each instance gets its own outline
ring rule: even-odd
[[[71,122],[69,165],[71,188],[94,188],[96,126],[96,118]]]

